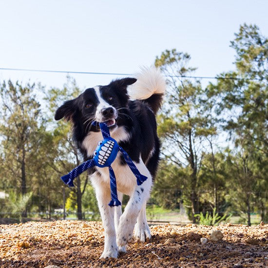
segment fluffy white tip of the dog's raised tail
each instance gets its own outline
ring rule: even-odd
[[[166,82],[159,69],[142,68],[136,78],[137,81],[128,86],[128,94],[131,99],[147,99],[153,94],[165,93]]]

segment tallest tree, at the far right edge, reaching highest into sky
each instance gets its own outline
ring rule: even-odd
[[[268,191],[267,187],[262,188],[267,185],[264,183],[266,173],[258,172],[267,170],[268,39],[261,35],[256,25],[244,24],[231,41],[231,47],[236,52],[236,70],[221,74],[219,77],[223,79],[218,79],[215,85],[210,84],[207,95],[221,99],[216,111],[222,117],[223,129],[234,141],[237,159],[232,163],[240,167],[238,170],[243,174],[239,188],[247,195],[241,201],[247,207],[250,225],[252,192],[259,192],[263,207],[263,196],[267,196]],[[256,189],[260,185],[261,188]]]

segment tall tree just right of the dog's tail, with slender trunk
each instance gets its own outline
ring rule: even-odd
[[[184,78],[195,70],[188,67],[190,59],[189,54],[166,50],[156,57],[155,66],[168,77],[169,86],[166,103],[158,116],[158,133],[164,139],[163,153],[178,167],[190,171],[187,188],[190,190],[191,218],[195,222],[193,215],[199,213],[202,142],[207,136],[216,134],[216,129],[211,125],[208,113],[204,113],[204,91],[200,82]]]

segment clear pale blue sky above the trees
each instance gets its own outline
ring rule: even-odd
[[[239,25],[268,36],[267,0],[0,0],[0,67],[134,73],[165,49],[190,53],[197,76],[233,69]],[[115,76],[72,75],[84,89]],[[62,86],[65,74],[1,71]]]

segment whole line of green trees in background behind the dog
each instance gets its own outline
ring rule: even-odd
[[[214,210],[250,225],[252,213],[268,222],[268,39],[244,24],[230,46],[235,71],[206,84],[191,77],[189,54],[172,49],[156,57],[168,89],[157,118],[162,159],[149,203],[183,207],[193,222]],[[80,92],[70,77],[61,89],[0,84],[0,217],[50,217],[66,209],[82,219],[85,211],[97,212],[85,174],[74,189],[59,178],[81,157],[71,125],[56,122],[54,113]]]

